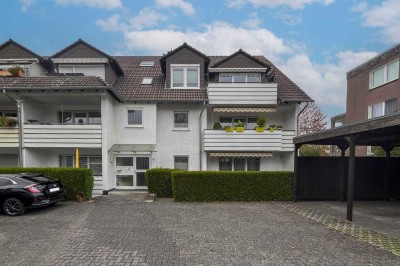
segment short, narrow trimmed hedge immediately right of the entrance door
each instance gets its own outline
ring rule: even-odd
[[[159,198],[172,198],[171,173],[179,171],[169,168],[153,168],[146,171],[149,193],[157,193]]]

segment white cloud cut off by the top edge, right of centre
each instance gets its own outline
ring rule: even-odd
[[[253,6],[266,6],[269,8],[275,8],[279,6],[287,6],[292,9],[302,9],[306,5],[319,3],[323,5],[330,5],[335,0],[227,0],[226,4],[230,8],[241,8],[246,3],[252,4]]]

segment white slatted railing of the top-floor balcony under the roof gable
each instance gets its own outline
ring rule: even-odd
[[[210,83],[209,103],[212,105],[265,106],[277,104],[276,83]]]

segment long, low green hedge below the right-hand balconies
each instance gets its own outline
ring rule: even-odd
[[[291,200],[293,172],[173,172],[175,201]]]

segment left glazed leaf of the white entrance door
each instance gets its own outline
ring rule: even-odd
[[[118,156],[115,158],[115,175],[117,180],[117,189],[133,189],[135,170],[133,168],[132,156]]]

